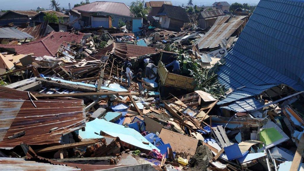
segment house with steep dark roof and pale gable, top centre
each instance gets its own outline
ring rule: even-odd
[[[180,30],[184,23],[189,23],[186,9],[180,6],[163,4],[157,16],[162,28],[168,30]]]

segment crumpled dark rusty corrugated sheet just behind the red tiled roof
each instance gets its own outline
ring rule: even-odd
[[[27,27],[27,28],[18,28],[18,30],[26,32],[34,37],[34,39],[41,39],[42,37],[46,36],[47,33],[47,26],[49,21],[45,21],[37,26],[34,27]]]

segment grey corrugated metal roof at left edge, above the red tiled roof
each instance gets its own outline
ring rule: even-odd
[[[0,38],[23,39],[23,38],[34,38],[34,37],[26,32],[22,32],[13,27],[2,27],[0,28]]]

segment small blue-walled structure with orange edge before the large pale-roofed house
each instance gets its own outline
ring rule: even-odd
[[[111,16],[102,16],[100,12],[95,12],[91,14],[91,27],[105,27],[111,28],[112,27],[112,17]]]

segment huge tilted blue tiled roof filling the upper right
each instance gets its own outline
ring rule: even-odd
[[[303,44],[304,1],[261,0],[219,69],[219,82],[234,91],[218,104],[280,84],[304,90]]]

